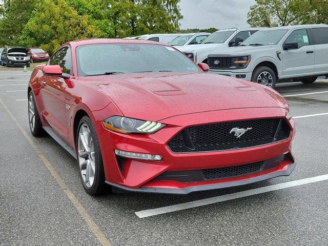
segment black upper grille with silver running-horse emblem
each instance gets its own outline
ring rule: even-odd
[[[288,139],[285,119],[255,119],[189,127],[168,143],[174,153],[251,148]],[[240,134],[241,133],[241,134]]]

